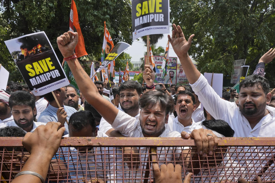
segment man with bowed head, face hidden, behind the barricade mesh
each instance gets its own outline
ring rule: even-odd
[[[90,111],[79,111],[72,114],[68,128],[69,134],[64,137],[108,137],[103,132],[97,130],[95,118]],[[121,154],[121,151],[119,153]],[[78,148],[62,147],[60,149],[60,159],[65,160],[65,165],[67,165],[69,171],[69,178],[72,182],[76,180],[76,174],[78,175],[76,182],[93,182],[92,180],[95,180],[95,178],[97,180],[113,182],[113,155],[113,148],[109,147],[79,146]],[[115,166],[117,166],[116,163]],[[121,163],[119,168],[122,168]]]

